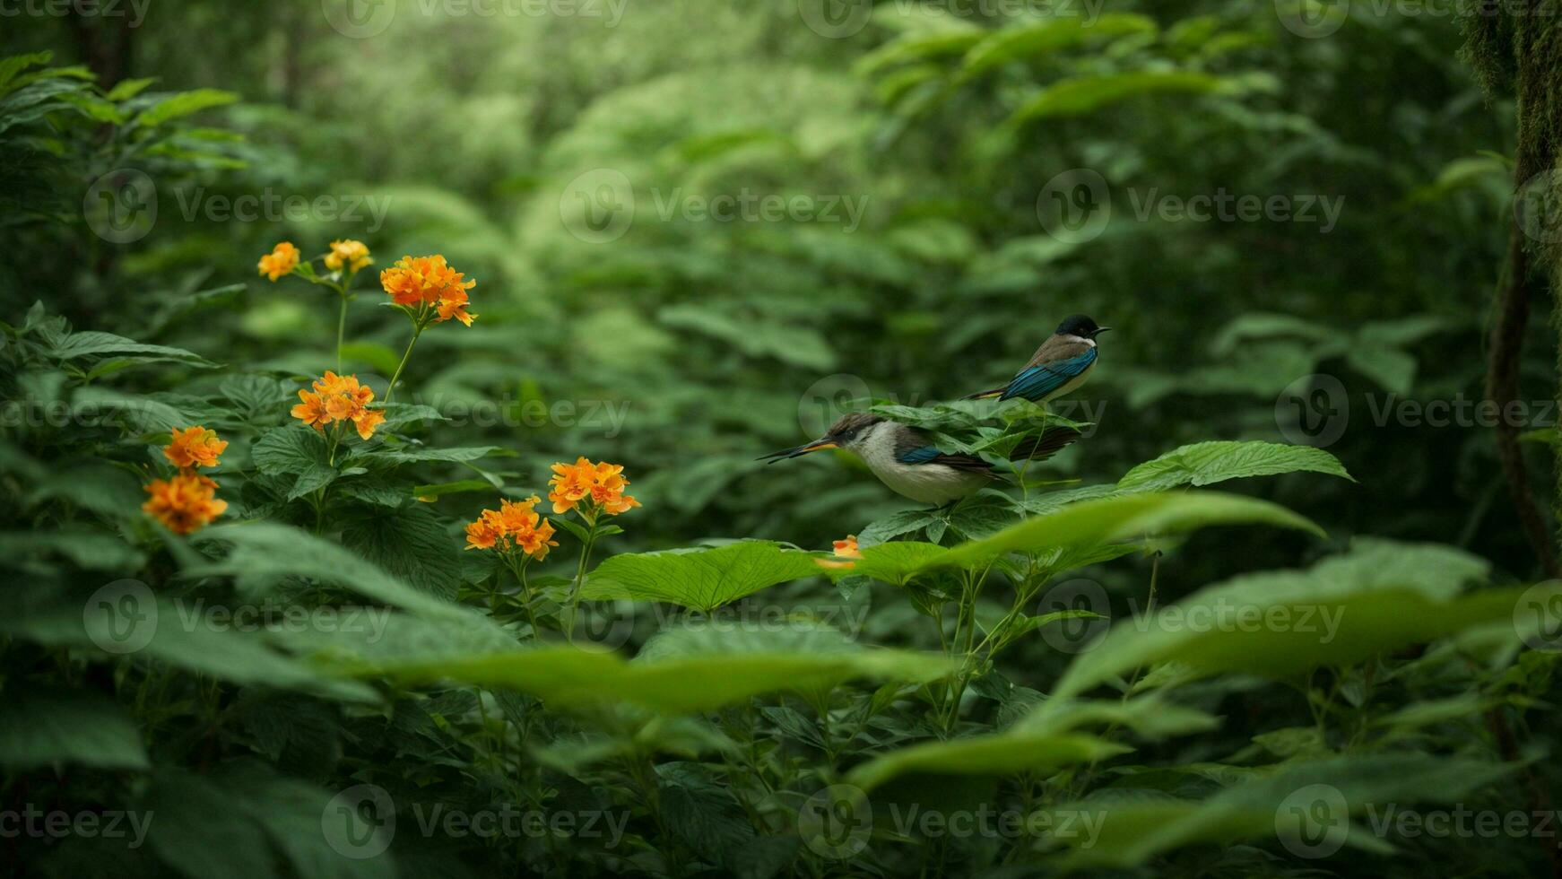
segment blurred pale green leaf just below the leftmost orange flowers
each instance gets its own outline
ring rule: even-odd
[[[192,578],[308,576],[415,614],[458,620],[472,614],[408,585],[362,556],[287,525],[272,521],[220,525],[200,531],[194,540],[200,543],[222,540],[231,543],[233,550],[225,559],[186,570],[184,573]]]

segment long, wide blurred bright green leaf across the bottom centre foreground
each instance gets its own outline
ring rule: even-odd
[[[822,654],[709,654],[626,662],[611,653],[548,646],[430,662],[355,662],[348,671],[411,684],[455,681],[514,687],[548,704],[629,703],[669,712],[715,710],[779,690],[809,692],[851,679],[925,682],[951,671],[942,656],[895,649]]]

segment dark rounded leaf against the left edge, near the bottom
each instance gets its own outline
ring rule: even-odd
[[[150,768],[141,731],[114,701],[84,690],[8,690],[0,707],[0,765],[25,771],[67,763]]]

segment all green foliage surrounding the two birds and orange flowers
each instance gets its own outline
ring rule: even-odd
[[[1482,100],[1446,17],[1361,5],[1303,16],[1321,39],[1290,3],[879,3],[847,39],[803,6],[0,33],[0,793],[152,818],[25,832],[5,873],[1550,867],[1382,817],[1559,781],[1562,592],[1529,585],[1489,425],[1403,409],[1484,395],[1509,19],[1467,27]],[[1045,219],[1070,169],[1107,186],[1095,237]],[[133,172],[159,214],[116,240],[92,198],[136,208]],[[1343,211],[1156,209],[1226,192]],[[697,209],[745,194],[806,211]],[[386,212],[211,212],[266,195]],[[356,284],[337,239],[373,250]],[[278,240],[311,284],[255,276]],[[405,359],[373,279],[431,251],[481,317]],[[1117,328],[1089,386],[958,400],[1073,312]],[[1550,400],[1550,351],[1521,361]],[[291,415],[326,368],[376,392],[369,439]],[[1296,445],[1320,375],[1348,429]],[[998,478],[908,509],[847,453],[754,461],[853,409]],[[226,507],[178,534],[141,504],[195,425]],[[464,550],[576,456],[642,506],[539,500],[555,545]]]

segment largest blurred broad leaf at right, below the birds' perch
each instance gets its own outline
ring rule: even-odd
[[[1186,667],[1182,679],[1221,671],[1289,678],[1318,665],[1351,665],[1384,651],[1467,628],[1514,620],[1523,589],[1457,595],[1457,575],[1415,564],[1448,557],[1439,548],[1368,543],[1361,557],[1306,571],[1236,578],[1114,626],[1081,654],[1054,689],[1081,693],[1156,662]],[[1554,587],[1562,595],[1562,584]],[[1515,637],[1518,632],[1515,631]]]

